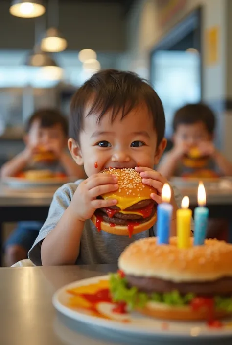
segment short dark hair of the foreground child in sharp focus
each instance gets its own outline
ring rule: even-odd
[[[165,116],[162,102],[157,93],[143,79],[132,72],[106,69],[94,74],[72,97],[70,107],[70,137],[79,143],[79,134],[83,129],[83,117],[88,102],[91,109],[85,116],[97,115],[97,123],[102,116],[112,110],[113,123],[119,111],[121,119],[132,109],[143,103],[153,117],[157,130],[157,145],[165,132]]]

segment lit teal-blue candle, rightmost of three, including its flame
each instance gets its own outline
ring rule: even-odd
[[[198,187],[198,205],[194,211],[194,246],[201,246],[205,242],[209,209],[204,207],[206,204],[206,191],[202,182]]]

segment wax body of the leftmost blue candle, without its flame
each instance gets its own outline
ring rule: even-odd
[[[159,204],[157,207],[157,243],[168,244],[170,237],[170,224],[172,218],[172,205]]]

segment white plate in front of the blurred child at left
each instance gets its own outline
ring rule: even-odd
[[[3,184],[6,184],[13,188],[25,188],[25,187],[41,187],[41,186],[52,186],[62,185],[68,182],[76,181],[76,178],[50,178],[42,180],[27,180],[22,177],[5,177],[1,179]]]

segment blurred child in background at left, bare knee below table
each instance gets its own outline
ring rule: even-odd
[[[1,168],[1,177],[17,176],[27,170],[51,170],[64,173],[67,176],[84,177],[84,171],[65,152],[68,139],[68,121],[59,111],[42,109],[36,111],[28,120],[24,137],[25,149]],[[51,162],[35,162],[34,154],[39,147],[52,152]],[[28,250],[33,245],[41,222],[20,222],[5,243],[5,259],[7,265],[27,257]]]

